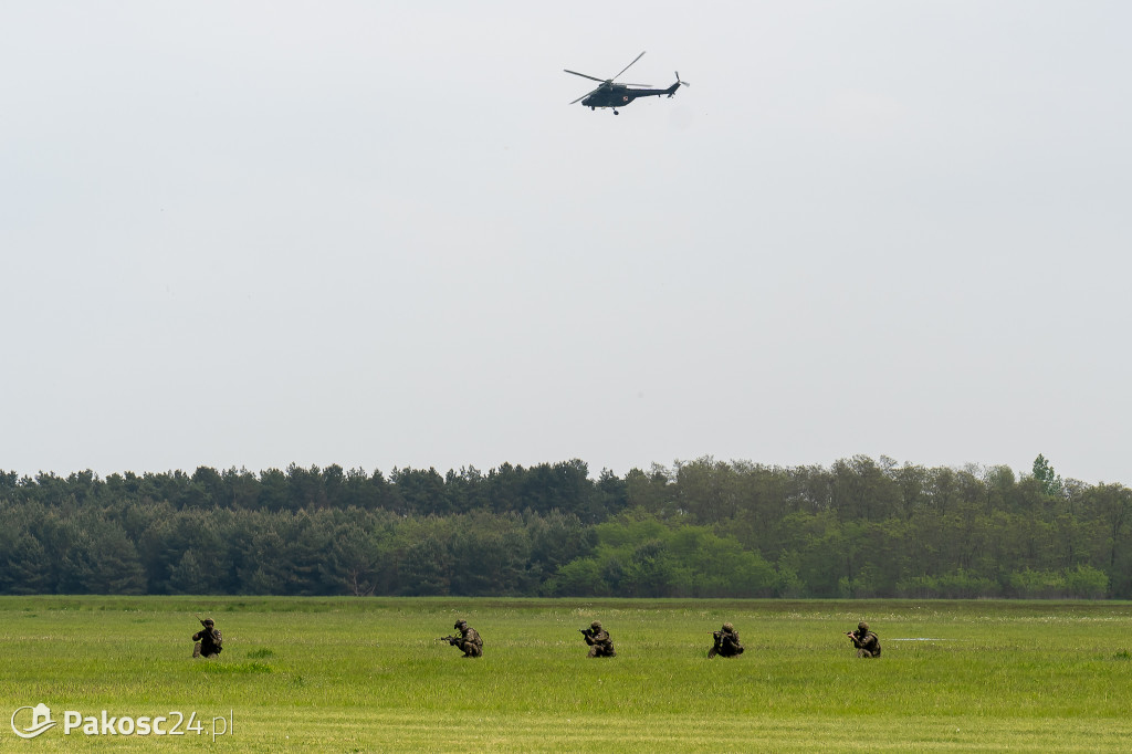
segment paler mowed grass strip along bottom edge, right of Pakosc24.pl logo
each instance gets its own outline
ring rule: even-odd
[[[1127,722],[868,717],[860,719],[646,716],[481,716],[392,712],[328,714],[306,725],[275,712],[254,722],[273,731],[247,751],[388,752],[813,752],[1127,751]],[[245,743],[241,742],[241,746]]]

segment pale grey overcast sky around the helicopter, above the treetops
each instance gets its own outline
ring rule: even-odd
[[[8,2],[0,469],[1132,483],[1132,3]],[[614,115],[595,84],[664,87]]]

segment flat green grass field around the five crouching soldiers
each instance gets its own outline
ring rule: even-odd
[[[194,611],[220,658],[191,659]],[[483,658],[434,641],[457,617]],[[585,657],[594,618],[617,658]],[[707,660],[724,620],[747,651]],[[8,597],[0,749],[1129,751],[1130,629],[1127,602]],[[18,738],[41,702],[59,725]],[[66,710],[205,732],[63,735]]]

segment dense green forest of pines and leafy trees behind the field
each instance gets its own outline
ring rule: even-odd
[[[0,593],[1130,599],[1130,514],[1041,455],[0,471]]]

